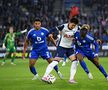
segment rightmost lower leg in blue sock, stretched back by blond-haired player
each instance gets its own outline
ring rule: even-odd
[[[100,70],[100,72],[104,75],[104,77],[108,80],[108,74],[106,73],[105,69],[103,66],[99,63],[99,57],[94,57],[93,60],[91,60],[95,66]]]

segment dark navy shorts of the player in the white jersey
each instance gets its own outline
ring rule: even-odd
[[[74,54],[75,54],[75,52],[74,52],[73,48],[64,48],[64,47],[58,46],[57,51],[55,53],[55,57],[63,58],[65,55],[67,57],[69,57],[69,56],[74,55]]]

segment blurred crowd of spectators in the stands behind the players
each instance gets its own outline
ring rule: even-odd
[[[95,38],[102,40],[100,56],[108,56],[108,0],[0,0],[0,47],[10,25],[15,32],[29,30],[33,19],[41,17],[42,26],[50,29],[68,22],[72,7],[79,9],[80,24],[89,24]],[[16,37],[18,47],[25,36]]]

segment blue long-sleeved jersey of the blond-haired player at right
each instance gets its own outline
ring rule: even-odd
[[[76,32],[75,34],[75,45],[76,45],[76,50],[82,50],[84,53],[88,51],[92,51],[90,48],[90,45],[94,44],[95,46],[95,53],[98,53],[99,50],[99,45],[95,41],[95,39],[91,36],[91,34],[87,34],[84,39],[81,39],[80,36],[80,31]]]

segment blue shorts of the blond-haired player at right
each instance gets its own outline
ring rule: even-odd
[[[89,51],[82,51],[82,50],[76,50],[76,54],[82,54],[83,57],[87,57],[89,60],[93,60],[95,58],[95,53],[92,50]]]

